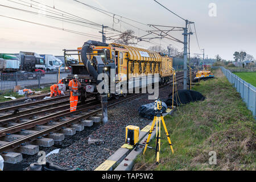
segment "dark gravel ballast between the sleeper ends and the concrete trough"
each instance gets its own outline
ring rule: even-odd
[[[165,86],[159,89],[159,98],[164,101],[168,94],[172,92],[172,86]],[[141,118],[138,109],[141,105],[154,102],[148,100],[148,94],[143,94],[139,98],[122,102],[108,109],[108,123],[93,123],[92,127],[85,127],[84,131],[77,132],[73,136],[65,136],[63,142],[54,144],[52,147],[40,147],[48,154],[48,152],[60,148],[58,154],[52,154],[47,157],[63,167],[79,168],[91,171],[97,168],[101,163],[114,154],[119,147],[125,143],[125,127],[127,125],[139,126],[143,129],[151,120]],[[102,139],[104,144],[88,145],[88,139]],[[23,169],[31,163],[37,162],[39,156],[23,155]]]

